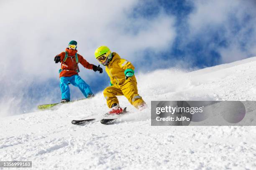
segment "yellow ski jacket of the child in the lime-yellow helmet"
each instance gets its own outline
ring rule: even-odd
[[[131,64],[131,62],[125,59],[121,59],[118,53],[113,52],[112,55],[113,58],[105,67],[105,70],[108,73],[108,76],[110,77],[110,82],[113,85],[123,85],[125,82],[124,71],[128,68],[134,70],[134,66]],[[135,76],[133,76],[133,79],[135,79],[136,81]]]

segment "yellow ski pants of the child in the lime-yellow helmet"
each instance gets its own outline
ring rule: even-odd
[[[137,82],[135,78],[128,78],[128,80],[126,80],[122,85],[116,84],[105,88],[103,95],[107,100],[109,108],[111,108],[114,103],[119,103],[118,98],[116,97],[118,95],[124,95],[136,108],[145,103],[142,97],[138,95]]]

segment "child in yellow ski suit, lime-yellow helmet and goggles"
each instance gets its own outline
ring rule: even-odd
[[[100,46],[95,50],[95,58],[105,66],[110,77],[110,86],[106,87],[103,95],[107,100],[110,114],[120,114],[118,95],[124,95],[129,102],[139,110],[147,107],[142,97],[138,95],[134,66],[131,62],[121,59],[116,52],[111,52],[107,46]]]

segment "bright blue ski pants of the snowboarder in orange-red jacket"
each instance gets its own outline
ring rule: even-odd
[[[86,98],[89,94],[93,94],[90,86],[79,75],[72,75],[71,77],[60,77],[61,99],[70,100],[69,84],[78,87]]]

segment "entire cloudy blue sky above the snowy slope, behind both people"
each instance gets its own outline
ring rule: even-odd
[[[92,64],[98,64],[94,50],[107,45],[136,72],[199,69],[256,56],[255,7],[253,0],[2,1],[0,115],[60,101],[60,65],[53,57],[70,40]],[[108,86],[107,74],[80,70],[95,93]],[[71,92],[72,99],[83,97],[76,87]]]

